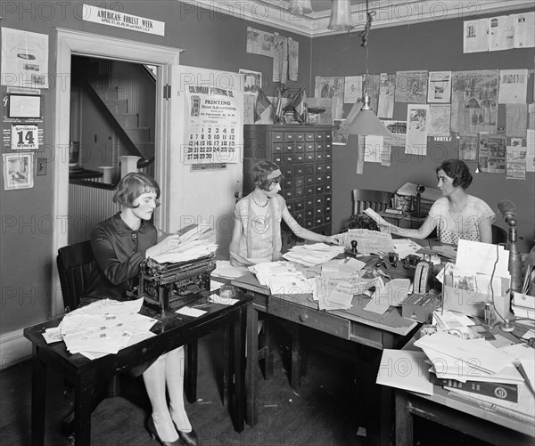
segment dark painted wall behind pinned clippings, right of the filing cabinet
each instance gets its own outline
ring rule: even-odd
[[[518,12],[518,11],[516,11]],[[515,12],[512,12],[515,13]],[[506,14],[506,12],[504,12]],[[369,35],[368,72],[370,74],[399,70],[472,70],[530,69],[528,101],[533,101],[533,64],[535,50],[514,49],[490,53],[463,53],[463,21],[440,20],[377,28]],[[312,41],[312,78],[316,76],[354,76],[366,73],[366,50],[357,36],[330,36]],[[314,82],[312,81],[314,84]],[[349,112],[346,106],[344,118]],[[505,124],[505,106],[498,110],[498,124]],[[407,104],[396,103],[394,118],[407,118]],[[405,155],[404,150],[392,150],[391,167],[365,163],[364,174],[356,174],[357,139],[350,135],[347,146],[333,146],[333,231],[340,231],[351,214],[351,190],[354,188],[397,191],[405,182],[436,187],[435,167],[443,159],[458,158],[453,144],[435,143],[426,157]],[[472,173],[475,161],[467,162]],[[474,174],[469,193],[484,199],[496,210],[501,199],[513,200],[518,207],[519,232],[523,236],[524,252],[533,246],[535,238],[535,174],[526,181],[506,181],[505,174]],[[506,227],[498,216],[498,225]]]

